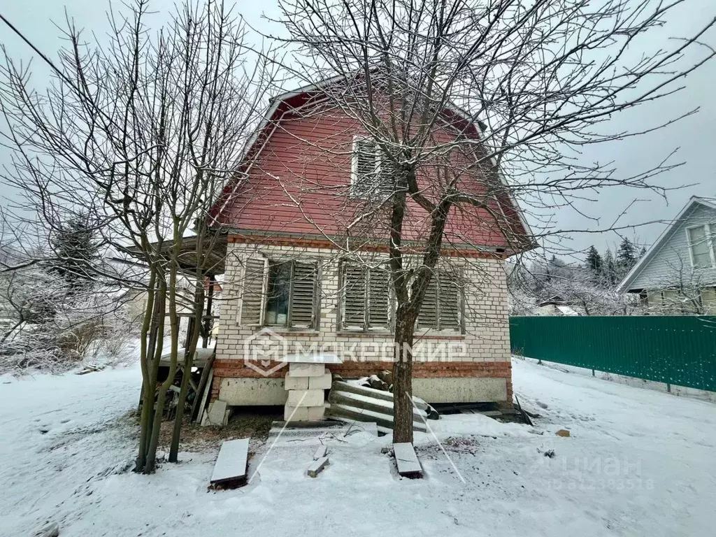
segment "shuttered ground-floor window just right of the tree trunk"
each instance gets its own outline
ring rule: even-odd
[[[463,330],[463,289],[455,272],[432,275],[417,315],[418,329]]]

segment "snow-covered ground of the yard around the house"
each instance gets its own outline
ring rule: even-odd
[[[139,372],[0,379],[0,534],[61,536],[712,535],[716,405],[514,360],[536,427],[479,415],[416,437],[422,480],[400,479],[367,432],[258,445],[238,490],[209,492],[216,451],[152,476],[124,471]],[[555,435],[567,428],[571,437]],[[554,450],[554,457],[543,455]],[[268,455],[267,455],[268,453]],[[454,464],[454,466],[453,466]],[[464,480],[464,482],[463,482]]]

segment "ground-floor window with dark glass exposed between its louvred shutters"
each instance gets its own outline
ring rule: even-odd
[[[310,261],[246,261],[241,324],[316,328],[318,267]]]

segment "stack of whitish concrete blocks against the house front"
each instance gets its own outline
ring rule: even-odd
[[[324,390],[331,387],[331,381],[331,372],[324,364],[289,364],[284,379],[284,388],[289,392],[284,407],[284,420],[323,420],[326,412]]]

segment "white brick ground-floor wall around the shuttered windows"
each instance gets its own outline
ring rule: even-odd
[[[339,312],[339,252],[319,248],[290,248],[286,246],[253,246],[241,243],[228,243],[225,283],[221,299],[216,357],[218,359],[243,359],[245,340],[256,334],[260,327],[239,324],[241,307],[241,274],[243,259],[261,254],[271,259],[299,258],[311,256],[320,260],[321,266],[321,306],[320,323],[316,331],[272,327],[273,332],[284,338],[276,342],[269,337],[261,337],[266,349],[276,353],[296,352],[296,344],[304,349],[311,345],[323,347],[325,352],[337,352],[344,361],[392,359],[390,349],[391,334],[348,334],[338,330]],[[387,256],[384,256],[387,257]],[[450,259],[451,265],[462,266],[462,274],[469,284],[465,287],[465,334],[451,339],[426,339],[429,348],[416,344],[415,359],[429,359],[431,352],[440,349],[448,352],[448,344],[464,344],[465,356],[460,356],[458,348],[453,346],[449,357],[442,354],[441,359],[448,361],[493,362],[510,359],[510,336],[507,312],[507,280],[504,261],[499,259]],[[445,336],[432,332],[427,336]],[[417,341],[417,338],[416,338]],[[353,345],[361,345],[354,347]],[[436,347],[441,345],[442,347]],[[384,347],[385,346],[385,347]],[[368,348],[367,348],[368,347]],[[360,351],[358,349],[362,349]],[[270,358],[267,356],[267,358]],[[280,359],[276,355],[274,359]]]

